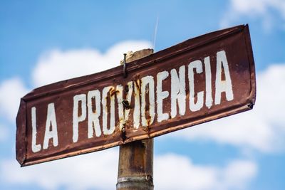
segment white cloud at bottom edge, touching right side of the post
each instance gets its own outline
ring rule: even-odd
[[[234,160],[225,167],[195,165],[187,157],[166,154],[155,159],[155,189],[243,189],[257,174],[257,166]]]

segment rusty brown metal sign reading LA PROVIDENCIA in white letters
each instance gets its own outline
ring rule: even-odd
[[[79,63],[78,63],[79,64]],[[247,25],[192,38],[123,66],[36,88],[21,98],[21,166],[156,137],[252,109]]]

